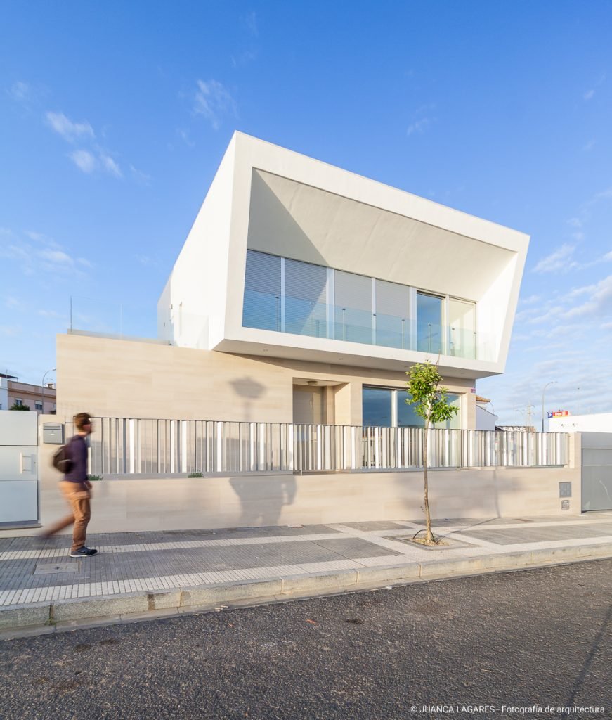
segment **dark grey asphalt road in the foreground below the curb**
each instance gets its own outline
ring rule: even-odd
[[[610,718],[611,602],[603,560],[6,641],[0,717]]]

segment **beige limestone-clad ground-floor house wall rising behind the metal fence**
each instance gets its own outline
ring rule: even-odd
[[[330,384],[334,423],[362,424],[362,386],[406,387],[402,372],[179,348],[70,333],[57,338],[58,415],[177,420],[293,421],[293,384]],[[445,378],[464,393],[462,422],[475,427],[472,381]],[[331,417],[331,408],[329,410]]]

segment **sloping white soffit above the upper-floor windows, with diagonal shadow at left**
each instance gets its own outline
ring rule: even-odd
[[[500,226],[495,230],[521,235]],[[247,246],[475,301],[516,255],[511,249],[256,168]]]

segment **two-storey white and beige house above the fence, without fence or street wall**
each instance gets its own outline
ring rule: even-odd
[[[58,336],[58,414],[418,426],[405,373],[429,359],[460,407],[452,426],[475,428],[528,243],[236,132],[161,294],[157,342]]]

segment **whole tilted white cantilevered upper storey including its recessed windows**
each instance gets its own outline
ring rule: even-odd
[[[529,237],[234,133],[158,303],[177,346],[503,372]]]

